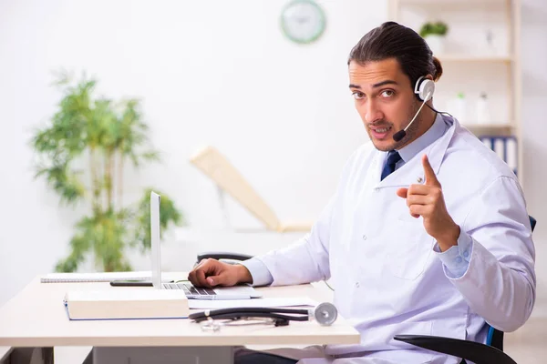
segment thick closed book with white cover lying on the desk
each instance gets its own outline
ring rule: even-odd
[[[71,290],[64,299],[68,319],[186,319],[188,298],[177,289]]]

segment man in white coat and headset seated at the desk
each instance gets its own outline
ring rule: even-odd
[[[330,278],[335,306],[361,342],[304,349],[293,356],[300,363],[457,364],[393,337],[485,342],[487,323],[507,332],[530,317],[535,252],[519,181],[455,118],[436,111],[431,97],[442,67],[413,30],[393,22],[373,29],[352,49],[348,69],[370,142],[349,157],[310,233],[241,265],[202,261],[189,278],[205,287]]]

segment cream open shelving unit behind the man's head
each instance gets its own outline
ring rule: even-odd
[[[434,51],[443,66],[435,106],[460,119],[452,106],[461,93],[462,125],[478,137],[515,136],[522,185],[521,0],[388,0],[387,5],[390,20],[417,32],[427,21],[449,26],[444,51]],[[481,124],[475,117],[480,94],[487,95],[490,110],[490,120]]]

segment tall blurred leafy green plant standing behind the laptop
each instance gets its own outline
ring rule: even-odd
[[[70,239],[70,252],[56,270],[77,270],[89,255],[99,271],[131,270],[124,253],[150,248],[150,190],[129,203],[124,199],[124,170],[160,160],[150,147],[148,126],[138,99],[115,102],[95,98],[97,81],[83,76],[73,82],[61,73],[57,86],[63,96],[46,126],[36,129],[31,147],[36,152],[36,178],[44,178],[64,205],[85,207]],[[134,186],[132,187],[134,190]],[[156,189],[154,189],[156,190]],[[160,227],[181,225],[181,211],[161,193]]]

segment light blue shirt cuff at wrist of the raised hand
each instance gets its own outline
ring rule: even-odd
[[[450,247],[446,251],[440,251],[439,243],[435,244],[433,250],[437,257],[445,266],[447,277],[456,279],[461,278],[470,267],[471,251],[473,249],[473,239],[463,230],[459,232],[458,245]]]

